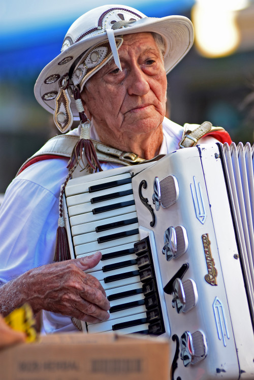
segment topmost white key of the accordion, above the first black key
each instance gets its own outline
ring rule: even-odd
[[[125,179],[125,178],[130,178],[131,174],[130,173],[124,173],[124,174],[119,174],[117,176],[113,177],[105,177],[105,178],[100,178],[94,181],[86,182],[86,176],[80,177],[79,181],[76,180],[76,184],[74,185],[69,185],[65,189],[65,194],[66,197],[70,197],[75,194],[82,194],[82,193],[87,193],[89,191],[90,186],[98,185],[100,183],[108,183],[120,179]],[[83,181],[82,181],[83,179]],[[72,181],[74,183],[75,181]],[[112,187],[114,188],[114,187]],[[92,193],[91,193],[92,194]],[[92,197],[91,197],[92,198]]]

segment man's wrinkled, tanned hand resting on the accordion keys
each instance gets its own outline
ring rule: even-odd
[[[28,302],[35,313],[44,309],[91,323],[105,321],[110,308],[106,293],[97,278],[83,272],[96,266],[101,257],[101,252],[97,252],[30,269],[5,284],[0,289],[0,297],[5,295],[1,291],[9,288],[6,289],[9,295],[20,293],[20,300],[14,302],[12,309]]]

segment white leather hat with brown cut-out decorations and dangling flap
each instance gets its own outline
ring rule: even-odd
[[[70,128],[73,118],[79,118],[73,99],[74,86],[79,86],[81,90],[86,80],[112,56],[120,67],[117,49],[122,44],[122,36],[144,31],[163,37],[166,73],[178,64],[194,41],[193,25],[188,18],[146,17],[136,9],[123,5],[104,5],[92,9],[71,25],[63,40],[61,53],[42,70],[35,84],[37,101],[55,114],[54,120],[61,132]],[[65,91],[60,93],[60,88]],[[63,99],[62,93],[67,94],[68,99]],[[70,112],[66,110],[68,107]],[[61,121],[66,117],[68,122]]]

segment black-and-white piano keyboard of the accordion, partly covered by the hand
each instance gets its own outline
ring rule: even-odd
[[[85,188],[83,183],[68,186],[66,202],[73,255],[102,252],[101,262],[89,272],[101,282],[111,305],[109,320],[86,324],[87,332],[164,333],[148,238],[140,248],[131,174],[86,182]]]

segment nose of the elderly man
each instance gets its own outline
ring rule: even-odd
[[[142,69],[137,66],[133,67],[129,74],[129,85],[128,93],[129,95],[145,95],[149,89],[149,83],[147,75],[142,71]]]

